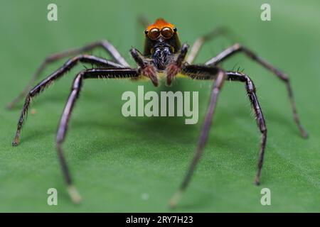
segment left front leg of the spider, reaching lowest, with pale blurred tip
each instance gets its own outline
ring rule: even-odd
[[[73,107],[75,106],[75,102],[77,101],[81,88],[82,82],[84,79],[124,79],[124,78],[138,78],[139,70],[134,69],[90,69],[84,70],[80,72],[73,81],[73,86],[71,87],[71,92],[68,97],[68,101],[65,104],[65,109],[63,110],[63,114],[61,116],[60,124],[58,127],[58,133],[56,138],[56,146],[58,157],[60,160],[61,170],[63,172],[63,176],[65,178],[65,182],[68,185],[68,193],[70,194],[71,199],[75,203],[80,202],[80,195],[78,191],[73,186],[73,181],[70,177],[70,172],[68,170],[68,165],[65,161],[65,157],[63,155],[63,142],[65,140],[65,135],[68,130],[68,123],[70,121],[70,116],[73,111]]]

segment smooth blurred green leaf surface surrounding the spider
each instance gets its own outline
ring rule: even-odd
[[[272,21],[260,20],[260,6],[271,5]],[[47,6],[58,5],[58,21],[47,20]],[[0,7],[0,211],[170,211],[167,201],[185,175],[208,104],[210,82],[176,80],[170,89],[198,91],[200,120],[124,118],[124,91],[155,89],[151,82],[86,81],[64,145],[79,206],[70,202],[55,153],[55,132],[76,67],[33,99],[21,145],[11,147],[22,103],[14,99],[50,53],[106,38],[130,63],[129,48],[142,50],[144,28],[166,18],[192,44],[199,35],[226,26],[234,40],[208,43],[204,62],[238,41],[292,79],[297,108],[309,139],[299,136],[284,84],[237,55],[223,64],[254,79],[268,128],[262,185],[255,187],[260,133],[244,85],[227,82],[218,101],[213,130],[190,187],[175,211],[320,211],[320,3],[314,1],[1,1]],[[103,50],[92,54],[107,57]],[[50,65],[42,78],[65,60]],[[90,66],[89,66],[90,67]],[[48,206],[47,190],[58,189],[58,206]],[[272,205],[260,204],[260,190],[271,189]]]

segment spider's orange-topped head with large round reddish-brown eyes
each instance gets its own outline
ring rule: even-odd
[[[144,31],[144,55],[169,56],[181,48],[176,26],[159,18]],[[159,55],[159,56],[157,56]]]

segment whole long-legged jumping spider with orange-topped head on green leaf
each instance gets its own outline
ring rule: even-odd
[[[265,146],[267,142],[267,127],[265,124],[265,118],[262,114],[262,109],[257,99],[256,89],[254,83],[252,82],[252,79],[250,79],[247,74],[243,74],[242,72],[227,71],[219,66],[219,63],[223,62],[228,57],[231,57],[238,52],[243,52],[247,57],[250,57],[253,61],[259,63],[267,70],[270,70],[276,77],[278,77],[287,85],[287,92],[289,94],[289,100],[292,105],[294,121],[295,123],[297,123],[302,136],[304,138],[307,137],[307,133],[306,131],[304,131],[304,128],[299,121],[299,116],[297,114],[289,78],[286,74],[270,65],[269,62],[258,57],[250,49],[236,43],[235,45],[230,46],[230,48],[223,50],[204,64],[193,65],[192,62],[193,60],[195,60],[196,55],[198,54],[202,45],[208,42],[208,40],[212,40],[217,35],[224,34],[224,29],[215,29],[207,35],[198,38],[195,43],[193,43],[190,54],[188,55],[188,57],[186,57],[186,54],[188,52],[188,45],[181,45],[178,38],[178,31],[176,26],[166,22],[162,18],[157,19],[151,25],[149,25],[149,23],[146,23],[146,21],[142,21],[142,23],[144,24],[144,26],[146,26],[146,30],[144,31],[144,52],[139,52],[139,50],[135,48],[132,48],[130,50],[130,54],[132,55],[134,61],[137,63],[137,67],[130,67],[127,61],[124,60],[124,57],[122,57],[122,55],[120,55],[119,52],[114,48],[114,46],[107,40],[101,40],[95,43],[91,43],[83,48],[59,52],[50,55],[46,58],[46,60],[44,60],[42,65],[38,68],[33,78],[31,79],[31,82],[29,82],[23,92],[21,92],[21,94],[19,94],[19,96],[14,99],[11,104],[9,104],[9,108],[13,108],[23,96],[26,96],[26,100],[21,111],[21,116],[18,120],[16,136],[12,143],[12,145],[16,146],[19,144],[21,127],[23,126],[24,118],[28,112],[28,108],[31,104],[31,99],[33,99],[33,97],[35,97],[37,94],[40,94],[52,82],[59,79],[60,77],[63,77],[63,75],[65,75],[65,72],[71,70],[79,62],[90,63],[92,65],[98,66],[91,69],[82,70],[75,76],[68,101],[65,104],[65,108],[60,119],[60,124],[58,126],[56,149],[58,152],[58,159],[60,161],[60,167],[63,172],[63,177],[68,186],[68,194],[70,194],[70,198],[73,202],[80,202],[80,194],[78,194],[78,191],[73,185],[73,180],[70,176],[68,165],[63,155],[63,142],[65,141],[65,135],[68,131],[68,123],[70,121],[73,107],[75,106],[75,102],[79,97],[80,91],[82,89],[82,84],[85,79],[149,79],[155,87],[159,85],[159,79],[161,77],[166,79],[166,85],[170,85],[172,80],[176,76],[181,77],[181,75],[183,77],[188,77],[191,79],[206,79],[208,81],[213,81],[210,101],[208,104],[208,111],[206,112],[206,117],[203,121],[200,137],[198,138],[198,145],[181,186],[169,201],[171,207],[176,206],[176,204],[178,203],[178,200],[186,190],[186,187],[191,180],[191,176],[193,175],[193,172],[196,168],[196,165],[198,164],[198,161],[201,158],[201,155],[203,155],[203,150],[205,148],[206,141],[208,140],[208,133],[215,111],[215,106],[218,101],[220,90],[222,89],[223,83],[225,81],[244,83],[245,89],[247,91],[247,96],[249,97],[251,106],[254,109],[257,126],[260,129],[260,133],[262,134],[260,154],[257,162],[257,173],[255,175],[255,184],[260,184],[260,174],[262,170],[263,159],[265,155]],[[111,55],[112,60],[106,60],[100,57],[85,54],[85,52],[98,47],[105,49]],[[46,77],[46,79],[43,79],[40,83],[38,83],[36,87],[33,87],[31,89],[33,82],[38,79],[39,75],[45,69],[45,67],[48,64],[55,62],[56,60],[60,60],[63,57],[71,58],[70,60],[65,62],[62,67],[58,68],[58,70],[50,74],[48,77]]]

